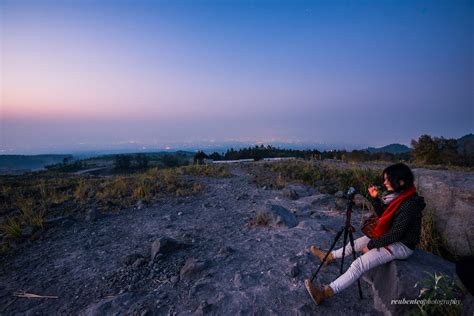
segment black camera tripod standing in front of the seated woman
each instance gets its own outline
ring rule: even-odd
[[[329,248],[328,252],[326,253],[326,256],[324,256],[323,261],[319,265],[318,269],[316,272],[313,274],[311,277],[311,283],[313,282],[314,278],[318,275],[319,270],[323,266],[323,264],[326,262],[329,254],[331,251],[334,249],[334,246],[336,246],[337,241],[339,238],[341,238],[342,233],[344,233],[344,246],[342,248],[342,260],[341,260],[341,270],[340,273],[342,274],[343,270],[343,265],[344,265],[344,256],[346,253],[346,243],[347,243],[347,237],[349,236],[349,241],[351,243],[352,247],[352,257],[354,260],[356,260],[356,253],[355,253],[355,247],[354,247],[354,236],[352,233],[355,231],[354,227],[351,225],[351,217],[352,217],[352,206],[354,205],[354,196],[355,196],[356,190],[353,187],[350,187],[349,190],[347,191],[347,210],[346,210],[346,222],[343,227],[341,227],[341,230],[337,233],[336,237],[334,238],[334,241],[331,245],[331,248]],[[357,280],[357,285],[359,286],[359,296],[360,299],[362,299],[362,288],[360,287],[360,280]]]

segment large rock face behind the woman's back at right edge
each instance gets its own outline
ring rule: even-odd
[[[448,248],[474,253],[474,173],[415,169],[415,185],[434,212],[435,225]]]

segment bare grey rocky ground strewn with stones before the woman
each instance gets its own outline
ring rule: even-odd
[[[363,300],[355,284],[320,306],[303,286],[319,265],[307,249],[329,248],[343,225],[341,200],[260,187],[249,170],[200,178],[195,196],[57,221],[0,259],[0,314],[379,314],[363,281]],[[261,211],[269,225],[249,225]],[[338,275],[329,265],[317,283]]]

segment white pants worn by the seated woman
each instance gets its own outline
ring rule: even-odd
[[[356,252],[362,251],[369,241],[370,238],[366,236],[354,240],[354,248],[356,249]],[[390,244],[388,245],[388,248],[392,253],[385,248],[373,248],[358,257],[354,262],[352,262],[349,269],[347,269],[343,275],[329,284],[334,293],[339,293],[350,286],[352,283],[357,281],[364,272],[394,259],[406,259],[413,253],[413,250],[401,242]],[[332,251],[332,255],[334,258],[342,258],[342,248]],[[352,247],[350,243],[346,245],[344,256],[347,257],[349,255],[352,256]]]

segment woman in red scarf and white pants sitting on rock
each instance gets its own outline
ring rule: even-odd
[[[305,287],[316,304],[341,292],[364,272],[394,259],[408,258],[420,241],[421,216],[426,204],[416,193],[413,173],[408,166],[397,163],[387,167],[382,176],[387,192],[379,196],[375,186],[368,189],[379,216],[372,239],[364,236],[354,242],[355,250],[364,254],[352,262],[343,275],[322,289],[314,287],[310,279],[305,280]],[[326,256],[315,246],[311,246],[310,252],[320,260]],[[350,243],[346,245],[345,254],[352,254]],[[326,264],[338,258],[342,258],[342,248],[332,251]]]

